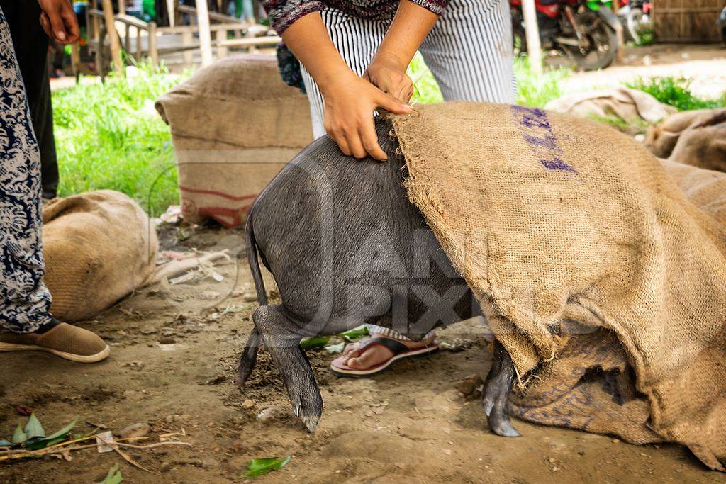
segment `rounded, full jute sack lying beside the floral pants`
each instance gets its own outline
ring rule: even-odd
[[[45,283],[61,321],[90,319],[154,270],[158,241],[144,210],[123,193],[99,190],[43,207]]]

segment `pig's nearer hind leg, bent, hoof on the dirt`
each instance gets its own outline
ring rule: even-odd
[[[272,355],[287,387],[295,415],[314,432],[322,415],[322,396],[305,351],[300,347],[297,327],[279,305],[260,306],[252,316],[262,342]]]

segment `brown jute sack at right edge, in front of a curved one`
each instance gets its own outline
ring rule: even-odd
[[[726,172],[726,110],[724,114],[721,124],[683,131],[668,159],[706,170]]]

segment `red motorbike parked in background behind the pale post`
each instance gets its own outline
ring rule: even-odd
[[[522,1],[510,0],[515,47],[526,52]],[[536,0],[542,48],[571,57],[583,70],[611,65],[618,52],[619,20],[600,1]]]

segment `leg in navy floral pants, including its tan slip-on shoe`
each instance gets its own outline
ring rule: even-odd
[[[73,361],[100,361],[110,351],[101,338],[50,313],[43,284],[40,153],[1,9],[0,104],[0,351],[44,350]]]

